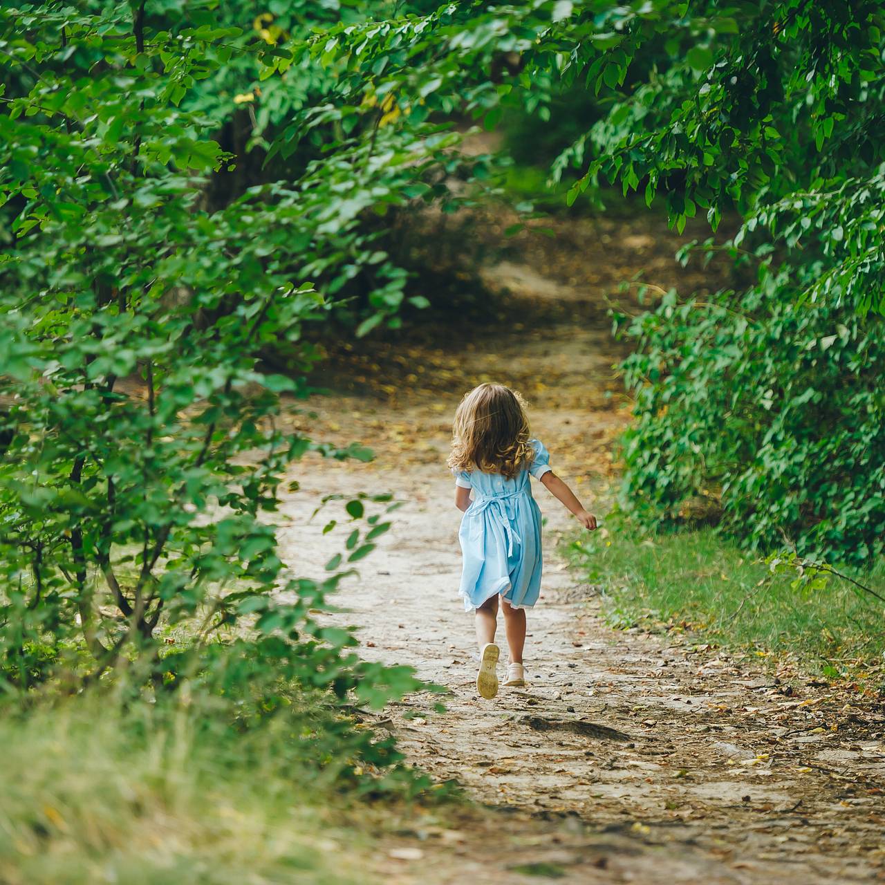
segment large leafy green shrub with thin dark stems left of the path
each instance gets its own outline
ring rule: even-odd
[[[341,281],[371,268],[363,331],[396,321],[405,274],[360,217],[425,193],[448,142],[394,142],[378,109],[351,109],[353,137],[297,181],[215,208],[208,182],[237,158],[192,94],[232,54],[280,78],[292,54],[208,9],[164,15],[0,12],[0,687],[127,672],[268,710],[295,686],[378,706],[411,671],[360,662],[311,612],[389,524],[355,498],[360,543],[319,580],[283,566],[272,524],[291,462],[371,452],[286,433],[280,396],[304,395],[304,327]],[[259,361],[269,347],[292,377]]]

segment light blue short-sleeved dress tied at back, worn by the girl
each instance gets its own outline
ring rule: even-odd
[[[531,608],[541,592],[541,511],[528,479],[550,472],[550,454],[530,440],[535,458],[512,480],[500,473],[463,470],[455,483],[473,489],[458,538],[464,556],[459,595],[471,612],[496,594],[513,608]]]

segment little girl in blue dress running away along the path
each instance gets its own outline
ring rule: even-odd
[[[529,437],[525,405],[503,384],[481,384],[461,400],[452,429],[448,463],[456,477],[455,505],[464,512],[458,533],[464,555],[458,592],[464,610],[476,611],[476,689],[483,697],[496,696],[498,688],[498,596],[510,646],[504,685],[526,684],[525,610],[537,602],[541,589],[541,512],[528,474],[543,482],[582,526],[596,528],[596,517],[550,469],[543,444]]]

